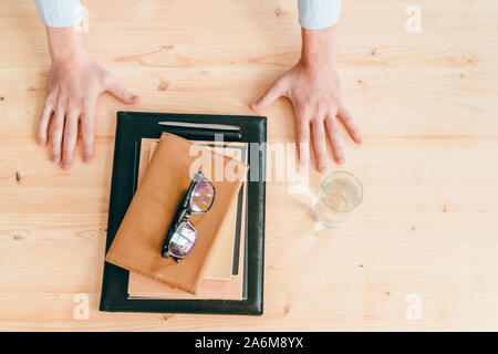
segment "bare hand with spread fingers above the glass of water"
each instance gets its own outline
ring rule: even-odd
[[[357,144],[362,136],[341,97],[341,84],[335,66],[333,50],[334,28],[302,30],[302,54],[299,62],[279,76],[257,102],[252,110],[262,110],[283,96],[291,101],[295,117],[295,135],[299,157],[308,164],[310,155],[310,127],[317,169],[326,170],[326,137],[331,142],[335,163],[344,163],[344,150],[339,137],[339,121],[344,124]],[[325,134],[326,132],[326,134]]]

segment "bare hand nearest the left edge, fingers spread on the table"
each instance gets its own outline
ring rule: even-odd
[[[38,142],[40,145],[50,142],[52,162],[70,168],[74,160],[79,123],[83,160],[89,163],[93,159],[98,96],[108,91],[128,104],[136,103],[138,96],[125,90],[111,73],[90,58],[79,33],[74,33],[72,28],[48,28],[48,34],[52,67],[46,82]]]

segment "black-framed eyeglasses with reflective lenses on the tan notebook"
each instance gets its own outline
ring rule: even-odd
[[[214,200],[215,186],[203,173],[197,173],[169,226],[160,250],[164,258],[173,257],[174,260],[179,262],[191,252],[196,244],[197,230],[190,222],[190,215],[209,211]]]

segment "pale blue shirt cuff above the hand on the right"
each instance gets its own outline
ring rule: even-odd
[[[342,0],[298,0],[299,23],[308,30],[334,25],[341,14]]]

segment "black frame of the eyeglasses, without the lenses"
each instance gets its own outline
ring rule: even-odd
[[[201,181],[201,180],[208,183],[212,187],[211,204],[204,211],[194,211],[191,209],[191,207],[190,207],[193,198],[194,198],[194,190],[196,189],[197,184],[199,181]],[[209,209],[211,209],[212,204],[215,202],[215,197],[216,197],[216,188],[215,188],[215,186],[212,185],[212,183],[208,178],[206,178],[206,176],[204,176],[204,174],[201,171],[198,171],[194,176],[190,185],[188,186],[187,191],[185,192],[184,198],[181,199],[181,202],[179,204],[178,208],[176,209],[175,216],[173,217],[172,223],[169,225],[168,232],[166,233],[166,238],[164,240],[163,248],[160,250],[160,256],[163,256],[164,258],[172,257],[175,261],[179,262],[184,258],[188,257],[191,253],[191,251],[194,250],[194,247],[197,243],[198,235],[197,235],[197,229],[190,222],[190,215],[208,212]],[[184,257],[177,257],[177,256],[173,256],[173,254],[169,253],[169,243],[172,241],[173,236],[175,235],[175,231],[178,229],[178,227],[183,222],[186,222],[188,226],[190,226],[196,231],[196,239],[194,241],[194,246],[191,247],[190,251],[187,254],[185,254]]]

